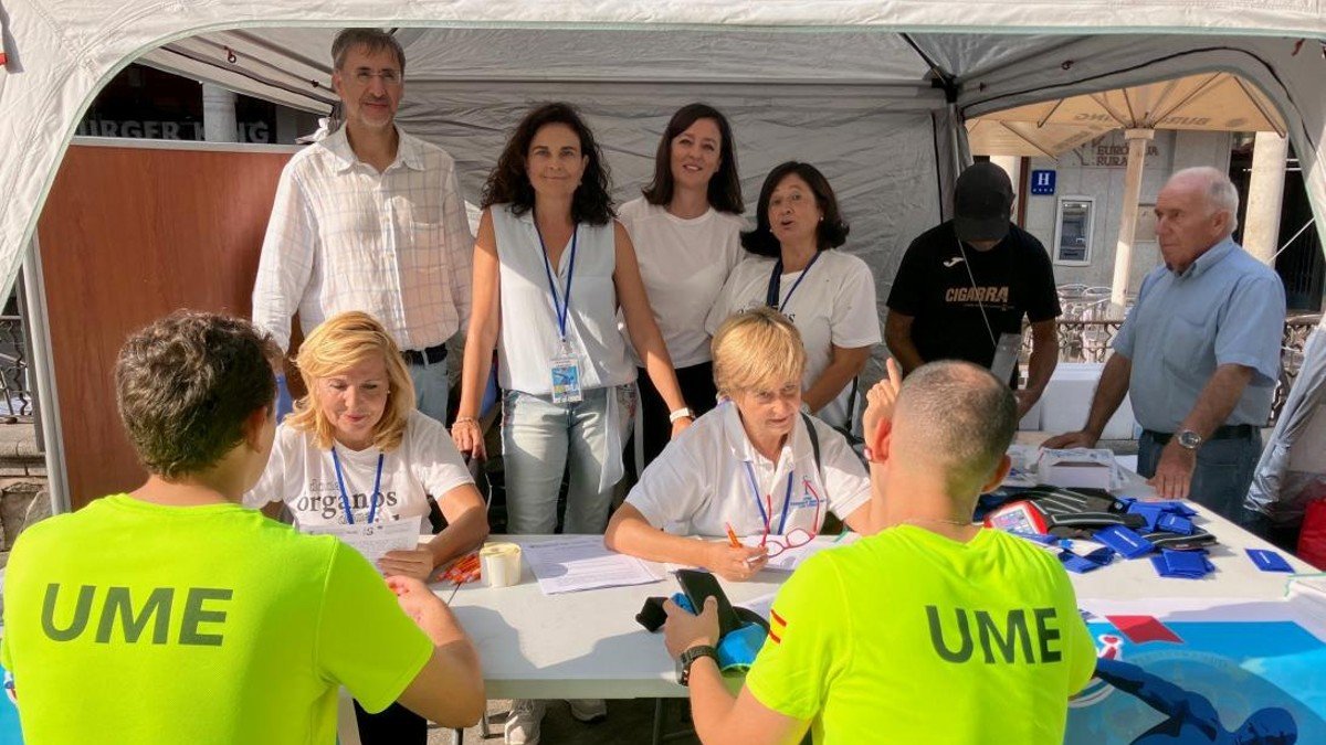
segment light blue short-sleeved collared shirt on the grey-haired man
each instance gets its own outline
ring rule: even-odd
[[[1280,376],[1285,286],[1227,237],[1183,273],[1158,266],[1142,281],[1114,350],[1132,361],[1128,395],[1138,423],[1175,432],[1220,365],[1253,376],[1225,424],[1262,427]]]

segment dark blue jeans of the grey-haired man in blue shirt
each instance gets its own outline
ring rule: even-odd
[[[1142,432],[1138,439],[1138,473],[1147,479],[1155,476],[1163,449],[1164,445],[1155,441],[1150,432]],[[1262,521],[1242,504],[1260,457],[1260,432],[1253,432],[1252,437],[1203,443],[1197,449],[1197,465],[1192,469],[1188,498],[1244,530],[1262,536]]]

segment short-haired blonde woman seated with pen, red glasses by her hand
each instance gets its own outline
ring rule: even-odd
[[[740,581],[813,540],[829,512],[874,533],[883,516],[871,506],[865,465],[842,435],[801,414],[806,351],[797,327],[757,308],[724,321],[712,351],[713,382],[728,400],[644,469],[607,525],[607,547]],[[818,464],[808,423],[818,436]],[[724,537],[729,525],[762,546],[733,547]]]

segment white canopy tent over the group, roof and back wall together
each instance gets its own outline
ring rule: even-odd
[[[647,179],[668,114],[703,99],[733,119],[748,201],[784,159],[826,172],[882,296],[907,241],[945,212],[963,119],[1201,72],[1237,73],[1280,110],[1326,224],[1322,0],[0,0],[0,25],[5,286],[118,70],[143,61],[326,111],[328,48],[346,25],[400,29],[400,121],[457,158],[471,200],[532,101],[585,110],[622,199]]]

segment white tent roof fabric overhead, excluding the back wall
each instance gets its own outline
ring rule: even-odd
[[[951,82],[947,95],[971,117],[1235,72],[1284,113],[1321,217],[1322,9],[1322,0],[5,0],[0,280],[12,282],[17,272],[78,118],[125,65],[149,54],[149,64],[325,110],[325,50],[345,25],[402,28],[411,95],[420,87],[597,84],[647,97],[655,85],[696,86],[747,91],[752,106],[761,95],[814,102],[822,94],[830,106],[823,121],[831,106],[855,99],[858,109],[878,101],[930,111],[940,126],[945,91],[932,87],[934,76]],[[1303,37],[1310,41],[1301,50]],[[216,64],[231,53],[243,64]],[[965,142],[953,138],[945,147],[960,152]]]

